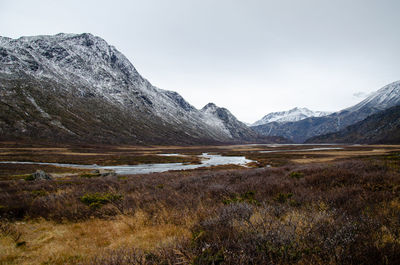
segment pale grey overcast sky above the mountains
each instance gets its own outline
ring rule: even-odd
[[[0,0],[0,35],[90,32],[153,85],[254,122],[400,79],[399,0]]]

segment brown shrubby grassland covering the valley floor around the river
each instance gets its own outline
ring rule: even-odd
[[[0,161],[255,161],[106,177],[0,164],[0,264],[400,264],[400,146],[0,147]],[[26,178],[37,169],[53,180]]]

